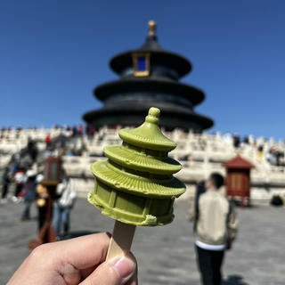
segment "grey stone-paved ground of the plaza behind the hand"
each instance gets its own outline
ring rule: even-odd
[[[0,205],[0,284],[4,284],[28,256],[28,240],[36,237],[36,220],[20,222],[23,204]],[[175,221],[163,227],[139,227],[133,252],[139,265],[140,284],[197,285],[191,224],[187,204],[175,205]],[[36,208],[32,216],[36,218]],[[224,285],[284,284],[284,208],[239,210],[240,232],[224,265]],[[113,221],[102,216],[85,199],[77,199],[71,215],[71,232],[110,231]]]

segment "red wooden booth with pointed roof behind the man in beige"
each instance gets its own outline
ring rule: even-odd
[[[228,197],[241,198],[241,207],[244,207],[244,201],[250,201],[250,169],[255,166],[243,159],[240,155],[226,161],[223,164],[226,168],[226,195]]]

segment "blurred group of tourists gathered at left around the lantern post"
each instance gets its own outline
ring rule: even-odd
[[[37,208],[37,224],[40,230],[45,224],[48,190],[44,181],[45,159],[54,154],[52,139],[46,137],[45,151],[38,151],[36,142],[28,142],[27,148],[12,156],[2,172],[1,205],[23,203],[22,222],[31,219],[30,208]],[[76,189],[73,180],[61,169],[61,181],[53,197],[53,227],[60,238],[69,233],[69,213],[75,203]],[[62,230],[62,231],[61,231]]]

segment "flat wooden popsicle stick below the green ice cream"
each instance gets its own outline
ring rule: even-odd
[[[135,225],[115,222],[112,238],[107,252],[106,261],[121,256],[131,249]]]

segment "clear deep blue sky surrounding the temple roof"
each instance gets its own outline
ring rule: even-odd
[[[182,82],[206,100],[209,132],[285,139],[285,1],[2,0],[0,127],[73,126],[117,79],[110,58],[156,20],[159,45],[193,66]],[[163,110],[162,110],[163,111]]]

